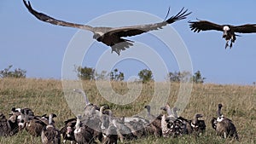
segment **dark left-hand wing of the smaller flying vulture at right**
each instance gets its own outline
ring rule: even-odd
[[[223,26],[214,24],[207,20],[199,20],[199,21],[189,21],[189,26],[191,31],[193,32],[201,32],[201,31],[209,31],[209,30],[217,30],[223,31]]]

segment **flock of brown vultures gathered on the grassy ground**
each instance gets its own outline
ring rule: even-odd
[[[101,142],[116,144],[118,141],[132,141],[148,135],[155,137],[178,137],[181,135],[201,135],[206,130],[206,124],[199,113],[191,120],[177,116],[177,107],[171,108],[168,104],[160,107],[165,114],[154,116],[147,109],[147,118],[134,116],[130,118],[117,118],[108,106],[98,107],[88,101],[84,91],[74,89],[84,96],[84,112],[77,118],[67,119],[64,127],[58,130],[53,118],[55,114],[37,116],[30,108],[12,108],[9,118],[0,113],[0,135],[11,136],[20,130],[26,130],[32,136],[41,136],[44,144],[60,144],[61,135],[63,142],[74,141],[79,144]],[[217,135],[224,138],[232,137],[238,141],[236,127],[229,118],[225,118],[218,104],[217,118],[212,118],[212,128]]]

